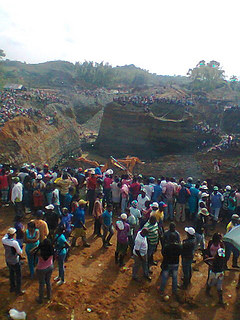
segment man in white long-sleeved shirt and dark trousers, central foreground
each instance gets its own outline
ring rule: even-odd
[[[132,279],[135,281],[138,281],[137,274],[140,267],[143,268],[144,278],[146,278],[148,281],[152,280],[152,278],[149,277],[149,267],[147,260],[147,235],[148,230],[144,228],[137,233],[135,239],[135,245],[133,248],[134,265],[132,270]]]

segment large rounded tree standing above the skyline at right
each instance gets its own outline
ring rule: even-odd
[[[220,63],[215,60],[208,63],[201,60],[195,68],[188,70],[187,75],[194,90],[211,91],[225,83],[224,70],[222,70]]]

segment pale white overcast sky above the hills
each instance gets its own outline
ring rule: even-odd
[[[0,48],[38,63],[105,61],[186,75],[217,60],[240,76],[239,0],[0,0]]]

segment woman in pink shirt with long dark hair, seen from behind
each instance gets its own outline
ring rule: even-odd
[[[44,239],[35,252],[38,254],[37,275],[39,280],[39,297],[38,303],[43,302],[44,285],[47,287],[47,298],[51,299],[51,275],[53,272],[53,246],[49,239]]]

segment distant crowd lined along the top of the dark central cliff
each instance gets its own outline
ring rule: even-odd
[[[194,106],[194,102],[192,100],[189,100],[188,98],[159,98],[154,95],[151,96],[123,96],[119,95],[113,98],[113,101],[120,103],[121,105],[125,106],[127,104],[132,104],[136,107],[146,107],[151,106],[154,103],[164,103],[164,104],[171,104],[176,105],[180,107],[186,107],[186,106]]]

